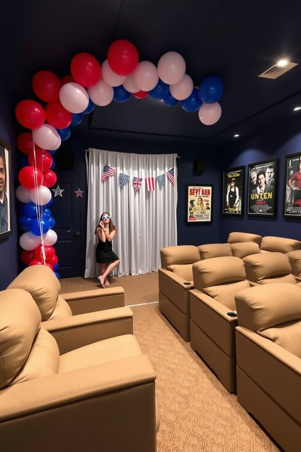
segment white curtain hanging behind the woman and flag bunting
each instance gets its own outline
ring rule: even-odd
[[[95,258],[97,235],[94,234],[102,212],[108,212],[117,227],[113,249],[120,258],[114,275],[138,275],[157,271],[161,267],[160,249],[177,245],[177,182],[165,175],[165,187],[155,179],[155,189],[148,192],[147,177],[175,171],[177,154],[145,155],[102,151],[86,151],[88,215],[85,278],[98,276]],[[116,173],[101,182],[103,165]],[[120,188],[119,175],[130,179]],[[143,178],[139,192],[134,191],[133,177]]]

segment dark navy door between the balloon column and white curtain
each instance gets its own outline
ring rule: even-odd
[[[61,192],[62,196],[52,191],[57,186],[64,190]],[[49,208],[56,221],[53,228],[57,234],[54,248],[59,259],[59,268],[56,271],[60,278],[81,276],[80,209],[83,209],[83,198],[74,193],[78,189],[79,176],[66,173],[62,177],[58,175],[55,186],[51,187],[54,198]]]

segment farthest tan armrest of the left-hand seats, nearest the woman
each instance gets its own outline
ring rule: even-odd
[[[125,291],[123,287],[60,293],[60,297],[67,301],[72,315],[125,306]]]

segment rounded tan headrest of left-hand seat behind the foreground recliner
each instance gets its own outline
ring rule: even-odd
[[[23,289],[29,292],[44,321],[50,317],[56,306],[60,282],[51,268],[46,265],[32,265],[14,278],[7,289]]]

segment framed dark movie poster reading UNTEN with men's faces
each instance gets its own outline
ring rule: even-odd
[[[248,215],[274,217],[278,159],[248,166]]]

